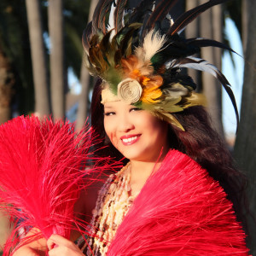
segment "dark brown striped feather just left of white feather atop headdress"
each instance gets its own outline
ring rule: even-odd
[[[106,32],[105,16],[111,8],[113,0],[99,0],[92,17],[92,32],[96,34],[98,29]]]

